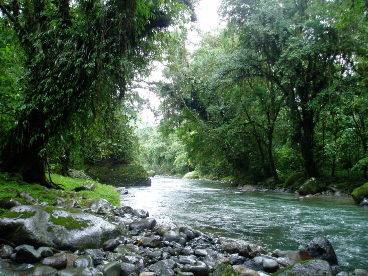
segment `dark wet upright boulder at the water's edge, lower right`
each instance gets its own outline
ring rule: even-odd
[[[326,260],[330,265],[337,265],[337,257],[332,244],[324,237],[316,237],[310,241],[305,250],[314,259]]]

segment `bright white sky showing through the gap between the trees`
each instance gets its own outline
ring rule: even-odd
[[[218,8],[221,4],[221,0],[200,0],[199,4],[196,8],[197,14],[197,22],[194,23],[194,27],[199,28],[204,32],[208,32],[211,30],[215,30],[220,27],[220,18],[218,16]],[[192,41],[191,50],[194,50],[196,44],[200,42],[201,37],[195,31],[190,31],[188,34],[188,39]],[[156,62],[154,63],[155,69],[151,73],[151,76],[148,78],[148,81],[159,81],[163,80],[161,70],[164,67],[162,64]],[[159,105],[159,99],[148,89],[141,89],[139,94],[142,98],[148,99],[150,102],[150,106],[152,108],[157,108]],[[157,125],[158,121],[155,120],[153,113],[145,108],[142,110],[140,114],[140,118],[143,122],[148,122],[152,125]]]

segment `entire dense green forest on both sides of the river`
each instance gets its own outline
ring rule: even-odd
[[[1,170],[48,187],[47,172],[106,159],[241,184],[365,183],[366,1],[223,0],[226,27],[191,51],[195,6],[1,1]],[[153,61],[161,120],[137,128]]]

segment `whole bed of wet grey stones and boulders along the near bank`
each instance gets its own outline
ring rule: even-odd
[[[30,202],[0,218],[0,275],[368,275],[340,271],[323,237],[305,250],[266,252],[244,240],[221,243],[214,234],[105,199],[86,209]]]

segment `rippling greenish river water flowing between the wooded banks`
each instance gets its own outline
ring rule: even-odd
[[[339,264],[368,268],[368,208],[352,200],[299,199],[294,194],[241,192],[215,181],[152,178],[151,187],[129,188],[123,205],[151,217],[171,216],[178,225],[223,239],[259,244],[267,252],[304,249],[316,236],[332,243]]]

